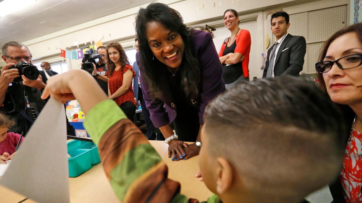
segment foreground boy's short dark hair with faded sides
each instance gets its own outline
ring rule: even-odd
[[[240,84],[210,102],[204,117],[210,155],[225,157],[259,202],[301,200],[340,172],[342,116],[300,78]]]

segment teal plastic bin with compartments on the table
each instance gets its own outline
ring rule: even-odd
[[[98,164],[101,159],[98,154],[98,147],[92,142],[72,140],[68,142],[69,177],[77,177],[92,167],[92,164]]]

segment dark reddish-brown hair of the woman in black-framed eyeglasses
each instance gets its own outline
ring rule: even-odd
[[[319,56],[319,61],[323,61],[325,55],[327,54],[328,48],[331,45],[331,43],[336,40],[338,37],[347,34],[347,33],[356,33],[357,37],[359,39],[359,42],[362,43],[362,23],[357,23],[354,25],[351,25],[345,29],[339,30],[336,33],[334,33],[323,45],[322,51],[320,53]],[[323,73],[317,73],[318,75],[318,79],[319,79],[319,84],[321,86],[321,88],[327,92],[327,87],[325,85],[325,81],[323,78]],[[352,124],[353,118],[355,116],[354,111],[352,110],[352,108],[350,108],[348,105],[343,105],[343,104],[339,104],[340,108],[342,109],[345,117],[346,117],[346,121],[347,124],[350,126]]]

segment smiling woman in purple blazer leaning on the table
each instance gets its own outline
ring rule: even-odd
[[[143,97],[169,145],[169,157],[178,161],[196,156],[205,107],[225,90],[211,34],[189,29],[180,13],[161,3],[139,10],[136,33]]]

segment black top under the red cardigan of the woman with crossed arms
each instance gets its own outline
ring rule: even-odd
[[[228,53],[234,53],[236,48],[236,40],[231,44],[230,47],[225,46],[223,56]],[[243,75],[243,64],[242,62],[238,62],[237,64],[223,64],[223,79],[225,84],[230,84],[235,82],[240,76]]]

